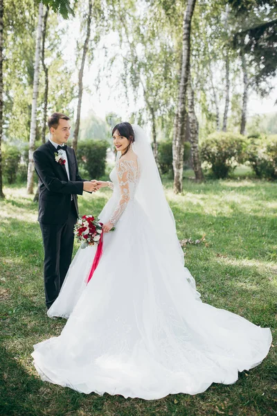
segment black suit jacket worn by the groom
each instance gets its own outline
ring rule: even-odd
[[[65,223],[71,209],[71,195],[78,214],[77,195],[83,193],[84,179],[78,173],[75,152],[66,148],[69,177],[64,165],[55,161],[55,146],[47,141],[34,153],[35,171],[39,177],[39,216],[44,224]]]

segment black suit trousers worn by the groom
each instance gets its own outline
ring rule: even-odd
[[[46,306],[50,308],[60,293],[64,278],[71,263],[74,234],[77,220],[74,201],[65,223],[39,223],[44,243],[44,291]]]

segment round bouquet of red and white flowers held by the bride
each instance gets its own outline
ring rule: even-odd
[[[96,221],[92,215],[83,215],[74,226],[74,234],[78,241],[82,241],[81,248],[98,244],[102,234],[102,223]]]

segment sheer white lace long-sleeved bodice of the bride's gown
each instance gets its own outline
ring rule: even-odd
[[[115,224],[125,211],[129,200],[134,199],[136,184],[139,181],[138,160],[119,159],[116,167],[111,171],[110,178],[113,184],[109,183],[109,187],[118,193],[118,203],[110,218],[111,223]]]

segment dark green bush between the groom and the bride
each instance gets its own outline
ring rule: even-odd
[[[78,143],[78,166],[89,174],[90,179],[99,179],[105,175],[108,147],[109,143],[102,140],[87,140]]]

